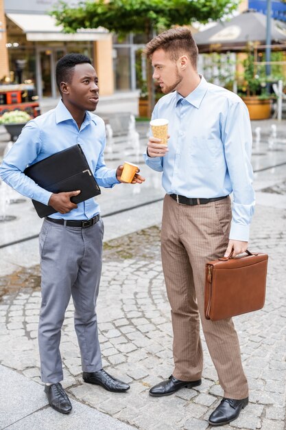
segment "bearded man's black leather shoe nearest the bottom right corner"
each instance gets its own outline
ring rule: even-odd
[[[239,417],[241,409],[246,407],[246,405],[248,405],[248,397],[241,400],[223,398],[217,409],[208,418],[208,422],[213,426],[228,424],[228,422],[234,421]]]

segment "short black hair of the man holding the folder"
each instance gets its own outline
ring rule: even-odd
[[[88,58],[86,55],[71,53],[58,60],[56,65],[56,82],[58,85],[58,91],[60,91],[60,82],[71,82],[73,69],[77,64],[82,63],[91,64],[91,58]]]

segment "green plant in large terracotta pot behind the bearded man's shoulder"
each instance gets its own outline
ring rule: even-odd
[[[248,107],[250,120],[267,120],[271,113],[271,96],[267,91],[267,78],[263,70],[258,72],[254,55],[248,50],[243,60],[243,79],[239,95]]]

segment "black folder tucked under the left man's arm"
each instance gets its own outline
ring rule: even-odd
[[[81,203],[101,192],[80,145],[56,152],[27,167],[24,173],[41,188],[53,193],[80,190],[78,196],[71,197],[73,203]],[[39,201],[32,202],[40,218],[57,212]]]

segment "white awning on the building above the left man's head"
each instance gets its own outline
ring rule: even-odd
[[[103,27],[81,29],[74,34],[63,33],[62,26],[56,25],[53,16],[44,14],[6,14],[11,21],[25,32],[27,41],[101,41],[108,38],[109,32]]]

